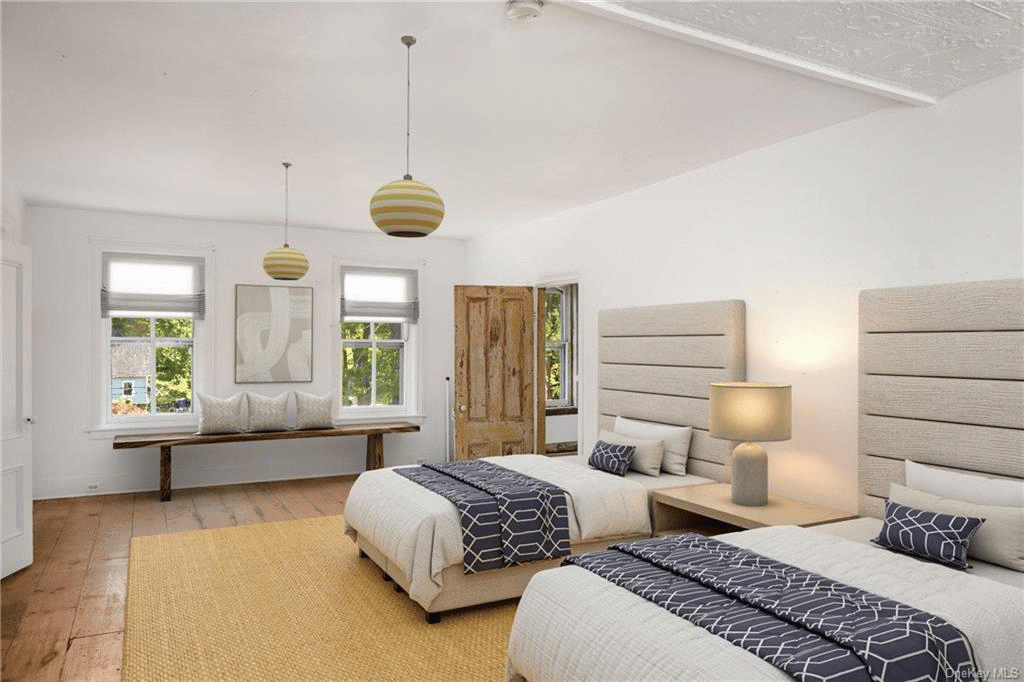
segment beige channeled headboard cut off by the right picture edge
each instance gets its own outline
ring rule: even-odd
[[[860,504],[904,460],[1024,478],[1024,280],[860,294]]]

